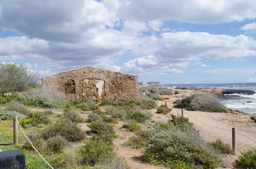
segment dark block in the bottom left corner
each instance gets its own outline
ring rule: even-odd
[[[0,152],[0,169],[25,169],[25,154],[20,150]]]

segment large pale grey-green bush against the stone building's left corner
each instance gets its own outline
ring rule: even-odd
[[[55,109],[63,104],[65,94],[52,89],[31,89],[17,97],[17,100],[26,106]]]

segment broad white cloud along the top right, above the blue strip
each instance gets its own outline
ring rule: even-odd
[[[123,0],[121,17],[145,20],[177,20],[189,23],[221,23],[256,18],[255,0]]]

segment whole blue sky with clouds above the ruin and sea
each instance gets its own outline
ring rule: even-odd
[[[256,82],[256,0],[1,0],[0,62],[140,82]]]

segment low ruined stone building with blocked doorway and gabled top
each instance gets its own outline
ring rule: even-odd
[[[67,100],[127,101],[138,97],[138,76],[88,66],[45,76],[42,88],[62,91]]]

